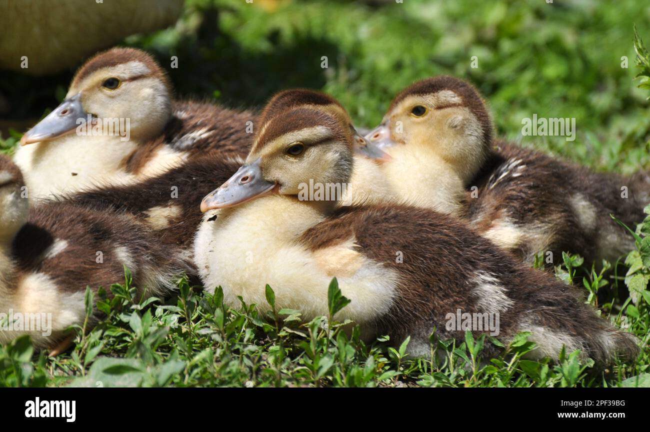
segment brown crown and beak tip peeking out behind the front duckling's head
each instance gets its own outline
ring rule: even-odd
[[[279,112],[281,110],[288,110],[289,108],[315,108],[328,112],[337,120],[346,123],[352,131],[352,138],[354,149],[356,153],[370,157],[376,160],[390,160],[390,156],[384,153],[378,146],[369,144],[369,142],[357,133],[352,118],[346,109],[339,101],[323,92],[311,90],[307,88],[294,88],[291,90],[283,90],[276,93],[266,103],[266,107],[260,116],[261,124],[264,124],[269,116],[269,113]]]

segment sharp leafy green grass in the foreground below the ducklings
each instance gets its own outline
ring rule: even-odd
[[[128,273],[127,273],[128,274]],[[635,387],[650,385],[647,347],[635,364],[614,364],[597,372],[578,353],[563,353],[559,362],[521,357],[534,348],[521,333],[503,353],[482,362],[485,336],[465,342],[434,342],[432,359],[405,355],[408,339],[392,348],[385,337],[373,344],[359,339],[359,328],[331,317],[346,305],[336,281],[329,288],[330,316],[306,324],[300,312],[276,310],[272,288],[266,299],[272,312],[255,305],[224,307],[223,293],[194,291],[179,281],[177,298],[134,301],[127,280],[112,286],[110,301],[99,294],[99,309],[108,318],[94,329],[77,328],[72,353],[34,358],[29,338],[0,348],[0,385],[40,387],[115,386],[348,386],[348,387]],[[87,305],[92,305],[90,290]],[[630,329],[647,345],[647,304],[628,311]],[[614,319],[614,317],[612,317]],[[620,320],[621,316],[618,317]],[[435,360],[437,359],[437,360]]]

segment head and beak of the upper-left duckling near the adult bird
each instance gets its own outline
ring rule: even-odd
[[[74,133],[89,118],[104,125],[122,120],[129,128],[122,136],[148,140],[162,132],[171,115],[172,87],[153,57],[139,49],[113,48],[81,66],[65,100],[27,131],[21,144]]]

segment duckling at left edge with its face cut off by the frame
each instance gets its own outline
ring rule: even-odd
[[[73,203],[30,208],[27,193],[19,168],[0,155],[0,343],[29,334],[34,346],[57,347],[70,325],[85,321],[86,286],[110,296],[125,267],[140,295],[168,292],[172,277],[190,268],[131,216]],[[42,328],[8,321],[18,316],[37,317]],[[90,324],[100,318],[94,311]]]

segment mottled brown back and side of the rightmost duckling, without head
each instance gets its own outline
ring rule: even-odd
[[[498,148],[467,193],[465,216],[482,235],[527,262],[543,252],[558,264],[562,251],[613,261],[634,248],[610,217],[630,227],[643,220],[643,205],[621,195],[629,179],[504,142]]]

